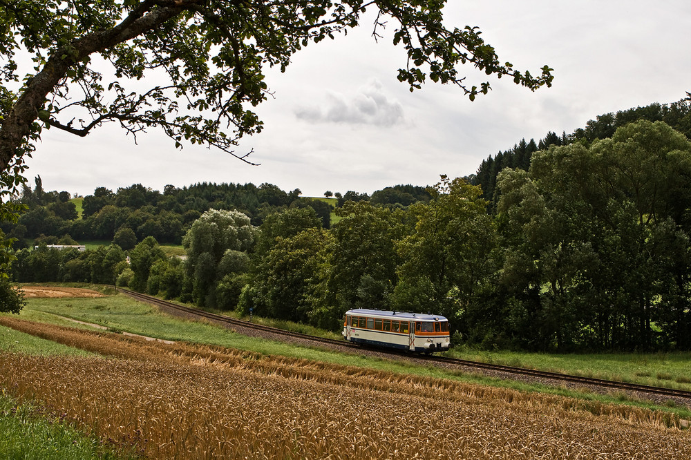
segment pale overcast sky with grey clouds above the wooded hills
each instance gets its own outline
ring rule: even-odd
[[[294,55],[286,72],[269,70],[274,99],[258,107],[264,131],[244,138],[249,166],[200,146],[176,150],[155,130],[134,144],[115,125],[86,138],[44,131],[27,177],[44,189],[88,195],[140,183],[253,182],[303,196],[327,190],[372,193],[395,184],[435,184],[477,171],[480,162],[523,137],[572,133],[589,119],[691,91],[691,2],[448,0],[448,26],[479,26],[500,61],[539,75],[554,69],[551,88],[535,93],[511,79],[462,67],[470,86],[493,90],[469,102],[454,86],[429,82],[408,91],[397,79],[403,50],[393,30],[375,43],[374,17],[334,41]],[[151,82],[153,83],[153,82]]]

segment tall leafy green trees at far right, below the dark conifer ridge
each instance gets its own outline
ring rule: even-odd
[[[689,347],[690,178],[691,142],[644,120],[500,174],[502,283],[524,346]]]

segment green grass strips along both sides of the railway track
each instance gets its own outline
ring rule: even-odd
[[[509,387],[524,392],[544,392],[549,394],[559,394],[571,396],[588,401],[599,401],[604,403],[620,403],[634,405],[642,408],[653,408],[665,410],[679,414],[683,419],[691,419],[691,411],[687,408],[654,405],[648,401],[638,401],[621,394],[600,395],[591,394],[583,390],[571,390],[566,387],[552,387],[547,385],[527,384],[518,381],[501,381],[494,378],[486,378],[480,374],[466,374],[463,372],[449,372],[439,367],[413,365],[406,361],[396,359],[372,358],[360,354],[341,354],[332,352],[319,347],[298,347],[278,341],[267,341],[265,339],[253,338],[237,334],[232,330],[225,329],[216,325],[203,322],[180,320],[164,314],[160,314],[158,309],[124,296],[122,294],[109,296],[106,298],[63,298],[63,299],[28,299],[27,306],[20,314],[21,318],[28,320],[44,321],[48,323],[64,324],[62,317],[74,318],[87,323],[97,323],[109,327],[115,331],[133,332],[156,338],[163,338],[173,341],[189,341],[193,343],[205,343],[221,345],[236,349],[244,349],[262,354],[272,354],[278,356],[288,356],[293,358],[305,358],[314,361],[327,363],[337,363],[341,365],[352,365],[357,367],[369,367],[375,370],[397,372],[403,374],[413,374],[419,376],[433,376],[437,378],[451,378],[455,381],[470,383],[481,383],[484,385],[494,385],[499,387]],[[261,318],[254,318],[257,322],[269,323],[271,325],[281,325]],[[283,325],[287,325],[283,323]],[[5,328],[6,329],[6,328]],[[300,329],[299,326],[290,325],[290,329]],[[314,333],[309,332],[309,333]],[[316,334],[315,334],[316,335]],[[319,335],[333,336],[333,333],[322,332]],[[336,336],[338,336],[336,334]],[[625,362],[622,356],[627,355],[541,355],[541,354],[511,354],[508,352],[473,352],[472,350],[456,350],[451,352],[454,356],[472,358],[476,361],[495,362],[509,365],[522,365],[524,367],[538,367],[547,370],[558,370],[560,372],[576,373],[577,365],[587,365],[594,367],[594,361],[602,360],[603,367],[607,363],[612,365],[618,361]],[[629,356],[630,363],[635,363],[634,356]],[[504,361],[502,361],[504,360]],[[536,365],[531,365],[531,364]],[[590,363],[590,364],[588,364]],[[649,365],[650,361],[649,361]],[[679,360],[656,361],[654,365],[659,372],[676,375],[685,369],[685,363],[679,356]],[[625,367],[632,376],[636,377],[636,370],[641,366],[630,365]],[[686,374],[689,375],[689,374]],[[656,379],[656,374],[651,374]],[[649,378],[649,377],[645,377]],[[622,378],[617,378],[622,380]],[[635,380],[635,378],[632,378]],[[640,380],[640,376],[638,376]],[[659,382],[655,382],[659,385]],[[672,407],[674,406],[674,407]]]

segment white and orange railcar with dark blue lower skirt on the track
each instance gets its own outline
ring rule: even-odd
[[[371,309],[345,312],[343,338],[422,353],[444,352],[451,346],[444,316]]]

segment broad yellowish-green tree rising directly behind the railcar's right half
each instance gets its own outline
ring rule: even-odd
[[[395,303],[399,309],[443,314],[458,327],[463,309],[495,269],[490,257],[496,245],[494,224],[480,187],[442,175],[429,191],[428,203],[410,207],[415,232],[398,245],[404,262],[397,270]]]

